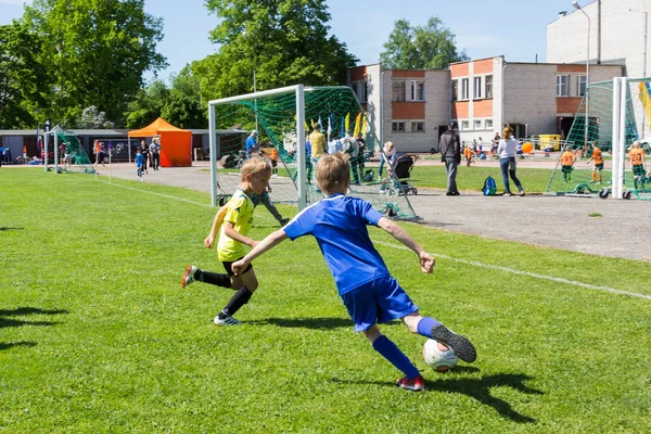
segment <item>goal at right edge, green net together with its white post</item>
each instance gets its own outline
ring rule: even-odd
[[[626,79],[590,84],[563,141],[547,194],[598,195],[651,200],[651,179],[634,175],[628,153],[639,141],[646,154],[651,122],[651,79]],[[587,112],[587,115],[586,115]],[[595,148],[603,153],[603,168],[590,159]],[[573,154],[572,164],[563,151]],[[637,171],[637,169],[636,169]]]

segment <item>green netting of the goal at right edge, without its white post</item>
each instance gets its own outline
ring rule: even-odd
[[[648,98],[649,80],[629,79],[624,106],[625,149],[628,152],[633,142],[641,141],[649,154],[649,144],[644,141],[644,131],[649,127],[651,99]],[[586,116],[586,106],[588,116]],[[617,120],[620,122],[620,120]],[[587,128],[586,128],[587,127]],[[547,194],[557,195],[597,195],[610,192],[612,184],[612,140],[613,140],[613,81],[600,81],[588,86],[566,140],[561,144],[557,166],[547,186]],[[603,168],[596,167],[591,159],[595,148],[603,153]],[[572,152],[572,165],[563,164],[562,152]],[[628,158],[628,154],[625,156]],[[565,161],[566,163],[566,161]],[[647,173],[648,167],[644,168]],[[624,173],[624,187],[633,194],[625,197],[651,200],[651,182],[636,179],[633,167],[627,162]]]

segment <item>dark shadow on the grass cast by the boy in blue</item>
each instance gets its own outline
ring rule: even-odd
[[[458,367],[455,368],[456,372],[461,371],[460,368],[465,368],[465,371],[476,370],[476,368],[470,367]],[[426,380],[425,381],[425,393],[426,392],[444,392],[444,393],[458,393],[468,395],[471,398],[476,399],[481,404],[493,407],[500,416],[508,418],[513,422],[518,423],[534,423],[536,420],[528,416],[520,414],[515,411],[509,403],[503,399],[497,398],[490,395],[490,388],[493,387],[511,387],[515,391],[522,392],[527,395],[544,395],[542,392],[528,387],[524,384],[525,381],[532,380],[532,376],[518,373],[498,373],[494,375],[487,375],[480,379],[441,379],[441,380]],[[346,381],[340,379],[332,379],[336,383],[354,383],[354,384],[379,384],[379,385],[391,385],[395,387],[395,383],[380,382],[380,381]]]

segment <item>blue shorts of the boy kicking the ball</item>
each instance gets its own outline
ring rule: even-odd
[[[368,330],[374,323],[384,323],[406,317],[418,310],[409,295],[391,277],[368,282],[342,295],[355,331]]]

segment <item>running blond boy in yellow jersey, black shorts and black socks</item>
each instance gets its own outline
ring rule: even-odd
[[[244,245],[255,247],[258,243],[258,241],[247,237],[253,224],[253,210],[255,208],[251,195],[253,193],[261,194],[269,187],[271,167],[263,158],[252,157],[246,159],[242,165],[240,178],[241,182],[238,191],[217,212],[210,233],[208,233],[208,237],[204,241],[206,247],[212,247],[217,237],[217,229],[221,227],[217,244],[217,256],[221,260],[226,273],[204,271],[193,265],[189,265],[181,281],[182,288],[196,280],[222,288],[230,288],[235,291],[235,294],[226,307],[215,317],[215,326],[240,324],[241,322],[232,316],[248,303],[251,296],[258,288],[258,281],[252,265],[238,276],[233,275],[231,265],[244,257],[246,254]]]

